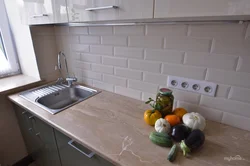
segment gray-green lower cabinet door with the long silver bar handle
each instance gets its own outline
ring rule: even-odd
[[[91,158],[87,157],[86,154],[91,154],[92,152],[82,145],[72,142],[64,134],[55,130],[55,135],[62,166],[113,166],[113,164],[96,154]]]

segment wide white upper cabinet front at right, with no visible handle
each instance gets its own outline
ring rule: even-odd
[[[250,14],[250,0],[155,0],[154,18]]]

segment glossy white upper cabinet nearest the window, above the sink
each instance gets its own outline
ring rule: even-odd
[[[17,0],[22,23],[28,25],[67,23],[65,0]]]

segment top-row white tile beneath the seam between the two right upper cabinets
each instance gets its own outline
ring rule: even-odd
[[[147,25],[148,36],[186,36],[187,25]]]

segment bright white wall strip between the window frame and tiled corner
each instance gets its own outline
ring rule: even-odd
[[[15,0],[5,0],[5,6],[22,73],[39,79],[40,75],[37,68],[29,26],[21,24],[18,5]]]

